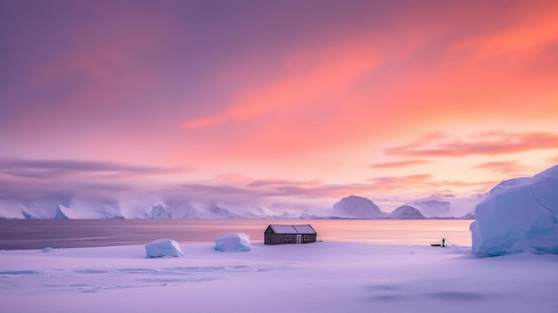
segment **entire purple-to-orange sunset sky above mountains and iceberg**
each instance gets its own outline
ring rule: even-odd
[[[382,208],[547,169],[557,121],[552,0],[0,1],[4,198]]]

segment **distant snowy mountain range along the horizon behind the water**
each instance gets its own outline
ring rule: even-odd
[[[262,206],[226,206],[216,203],[165,202],[158,197],[121,201],[73,198],[22,202],[0,199],[0,218],[110,219],[110,218],[474,218],[482,200],[431,196],[406,202],[393,212],[382,211],[372,200],[349,195],[329,209],[281,210]]]

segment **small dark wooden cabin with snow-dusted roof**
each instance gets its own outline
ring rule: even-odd
[[[265,244],[316,243],[316,230],[310,225],[270,225],[264,232]]]

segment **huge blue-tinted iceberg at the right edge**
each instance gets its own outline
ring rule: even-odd
[[[558,165],[496,185],[477,205],[475,216],[473,254],[558,254]]]

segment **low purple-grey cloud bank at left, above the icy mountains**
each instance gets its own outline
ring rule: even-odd
[[[164,190],[152,178],[192,169],[128,165],[109,161],[0,158],[0,197],[21,200],[117,199],[122,194]]]

